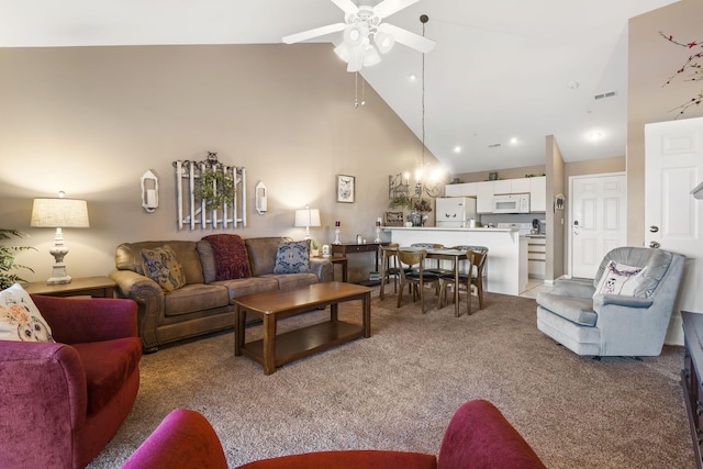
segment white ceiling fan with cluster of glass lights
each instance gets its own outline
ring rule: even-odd
[[[334,49],[347,63],[347,71],[359,71],[364,66],[381,62],[381,54],[387,54],[395,42],[399,42],[423,54],[435,46],[435,42],[410,31],[384,23],[383,19],[400,10],[417,3],[420,0],[382,0],[375,7],[369,0],[331,0],[345,13],[344,23],[328,24],[322,27],[283,36],[286,44],[299,43],[326,34],[344,31],[343,42]]]

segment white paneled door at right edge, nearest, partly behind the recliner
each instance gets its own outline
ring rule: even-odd
[[[683,344],[680,311],[703,313],[703,118],[645,125],[645,246],[687,256],[667,343]]]

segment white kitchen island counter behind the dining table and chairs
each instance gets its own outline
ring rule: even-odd
[[[455,228],[387,226],[391,243],[410,246],[434,243],[446,247],[473,245],[488,247],[483,289],[492,293],[518,295],[527,288],[527,238],[517,228]]]

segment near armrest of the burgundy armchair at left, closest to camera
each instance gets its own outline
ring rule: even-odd
[[[0,467],[70,467],[74,429],[83,425],[88,406],[78,351],[66,344],[1,340],[0,376]],[[27,445],[37,450],[21,449]]]

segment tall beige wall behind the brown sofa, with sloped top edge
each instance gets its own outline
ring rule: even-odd
[[[53,264],[52,230],[29,226],[36,197],[88,200],[91,227],[65,230],[66,261],[69,275],[94,276],[113,267],[121,242],[223,232],[177,230],[177,159],[213,150],[246,168],[248,226],[224,232],[302,238],[293,210],[310,204],[321,211],[312,234],[322,243],[334,239],[335,220],[343,242],[372,239],[388,175],[421,159],[417,138],[370,87],[366,105],[354,107],[355,77],[326,44],[5,48],[0,68],[0,226],[27,233],[38,249],[18,257],[35,270],[27,280],[48,278]],[[159,176],[153,214],[141,206],[147,169]],[[356,177],[355,203],[335,201],[337,174]],[[259,180],[265,215],[253,210]]]

